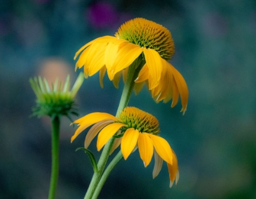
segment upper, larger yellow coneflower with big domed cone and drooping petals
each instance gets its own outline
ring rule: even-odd
[[[102,80],[107,71],[108,78],[118,88],[121,74],[126,82],[129,66],[140,58],[138,62],[142,60],[144,66],[135,81],[135,93],[139,93],[146,82],[152,97],[157,102],[172,99],[171,107],[177,104],[180,95],[184,114],[188,88],[179,71],[168,62],[174,52],[174,42],[168,29],[153,21],[135,18],[121,25],[115,37],[99,37],[82,46],[74,59],[81,53],[76,69],[84,66],[85,77],[99,71],[103,87]]]

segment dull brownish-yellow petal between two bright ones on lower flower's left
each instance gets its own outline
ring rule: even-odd
[[[88,148],[89,145],[91,144],[91,141],[93,140],[93,138],[95,138],[95,136],[99,133],[99,131],[105,127],[106,125],[112,123],[112,120],[104,120],[102,122],[98,122],[96,124],[93,125],[93,127],[90,128],[90,130],[88,131],[86,137],[85,137],[85,148]]]

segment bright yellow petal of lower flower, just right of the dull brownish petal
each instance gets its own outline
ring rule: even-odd
[[[97,149],[98,151],[107,143],[107,141],[112,138],[112,136],[119,130],[119,128],[126,126],[122,123],[113,123],[107,125],[107,127],[101,130],[97,139]]]

